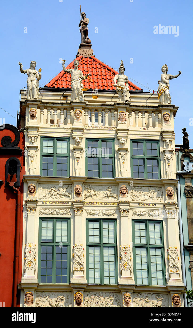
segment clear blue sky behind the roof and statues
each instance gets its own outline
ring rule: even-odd
[[[60,58],[68,64],[76,57],[81,42],[81,4],[89,18],[88,36],[94,55],[115,69],[122,59],[125,74],[139,87],[144,85],[144,91],[148,90],[147,84],[151,90],[158,89],[162,65],[167,64],[172,75],[182,71],[170,81],[172,104],[179,106],[175,143],[182,143],[181,129],[186,127],[193,148],[192,1],[60,1],[1,3],[0,107],[16,117],[20,89],[26,87],[27,81],[27,76],[19,71],[19,61],[24,69],[29,68],[31,60],[37,62],[36,69],[42,68],[43,87],[62,71]],[[179,26],[179,36],[154,34],[153,27],[159,24]],[[1,117],[5,117],[5,123],[16,125],[16,119],[0,109]]]

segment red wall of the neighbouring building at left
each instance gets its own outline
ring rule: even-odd
[[[5,181],[5,165],[10,157],[16,157],[21,163],[20,168],[20,187],[21,193],[21,215],[20,215],[20,234],[19,234],[19,271],[18,281],[21,281],[22,276],[22,231],[23,231],[23,175],[25,174],[24,162],[24,147],[25,136],[23,132],[20,133],[20,140],[17,145],[21,151],[16,147],[6,149],[7,147],[0,147],[0,180],[3,180],[0,186],[0,306],[11,306],[13,298],[13,276],[14,276],[14,247],[15,247],[15,223],[16,223],[16,199],[17,193],[14,192],[13,187],[6,185]],[[2,137],[10,136],[11,141],[15,140],[15,135],[10,129],[0,129],[0,146]],[[20,302],[20,291],[17,292],[17,306]],[[2,302],[2,303],[1,303]],[[5,302],[5,303],[3,303]]]

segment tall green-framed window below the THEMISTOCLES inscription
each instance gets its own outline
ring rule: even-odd
[[[38,280],[40,283],[69,283],[70,221],[40,218]]]

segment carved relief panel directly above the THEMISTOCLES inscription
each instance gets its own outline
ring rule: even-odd
[[[63,185],[58,187],[52,185],[41,185],[39,188],[39,199],[61,199],[67,198],[71,199],[71,186]]]

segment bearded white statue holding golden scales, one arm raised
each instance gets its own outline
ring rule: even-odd
[[[90,73],[88,73],[84,76],[83,72],[78,70],[78,65],[79,61],[77,59],[75,59],[74,61],[74,69],[66,69],[65,60],[62,63],[63,71],[71,74],[71,101],[80,101],[85,99],[83,91],[81,89],[81,83],[82,80],[85,80],[89,75],[91,75]]]

